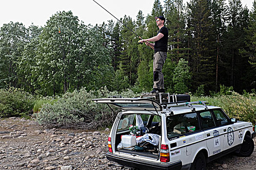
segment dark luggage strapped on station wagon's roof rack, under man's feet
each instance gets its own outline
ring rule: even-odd
[[[140,98],[153,99],[159,103],[166,102],[190,102],[190,95],[188,94],[176,94],[170,93],[142,93]]]

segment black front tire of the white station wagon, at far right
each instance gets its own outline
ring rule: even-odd
[[[250,136],[245,135],[241,149],[237,155],[241,157],[248,157],[253,152],[254,152],[254,141]]]

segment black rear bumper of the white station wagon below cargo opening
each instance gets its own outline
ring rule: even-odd
[[[113,153],[107,153],[106,157],[110,161],[117,162],[125,167],[138,168],[139,170],[180,170],[182,167],[181,161],[169,164],[161,164],[154,162],[139,161],[122,156],[117,156]]]

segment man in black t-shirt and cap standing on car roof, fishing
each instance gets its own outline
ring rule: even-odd
[[[157,36],[142,39],[140,42],[145,42],[147,46],[155,51],[153,63],[154,85],[150,93],[164,93],[162,67],[167,58],[168,30],[164,26],[165,18],[163,16],[155,17],[155,19],[159,28]],[[154,41],[155,44],[149,41]]]

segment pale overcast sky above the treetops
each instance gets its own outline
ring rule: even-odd
[[[136,19],[141,10],[144,17],[150,14],[155,0],[96,0],[118,19],[124,15]],[[164,0],[160,0],[162,5]],[[183,0],[184,2],[188,0]],[[228,0],[227,0],[228,1]],[[243,6],[251,10],[253,0],[241,0]],[[21,22],[26,27],[44,26],[46,21],[57,11],[73,12],[86,25],[101,24],[103,21],[115,20],[110,14],[98,6],[93,0],[1,0],[0,27],[10,21]]]

